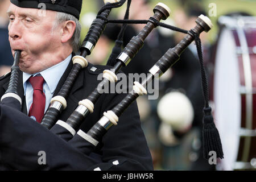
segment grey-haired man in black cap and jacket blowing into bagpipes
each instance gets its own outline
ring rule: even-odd
[[[21,98],[24,114],[1,105],[2,169],[152,169],[136,103],[126,110],[119,118],[119,125],[109,131],[89,156],[40,126],[51,98],[57,95],[71,72],[72,57],[79,47],[81,6],[82,0],[11,0],[7,12],[10,18],[9,41],[13,55],[15,50],[20,50],[17,94]],[[66,99],[67,107],[59,117],[63,121],[67,120],[79,101],[97,87],[100,82],[98,75],[111,68],[85,64],[72,83]],[[0,80],[0,96],[6,92],[10,75]],[[93,113],[88,115],[80,129],[88,131],[104,111],[117,105],[124,95],[102,94],[94,105]],[[6,119],[6,115],[10,118]],[[22,122],[14,125],[8,121],[15,121],[16,118]],[[13,131],[6,130],[9,125],[12,125]],[[7,147],[5,143],[9,143]],[[38,163],[40,151],[37,148],[46,152],[45,164]]]

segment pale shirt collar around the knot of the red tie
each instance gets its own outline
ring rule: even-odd
[[[65,70],[68,67],[69,61],[71,60],[72,55],[69,55],[64,61],[61,61],[59,64],[54,65],[53,67],[47,68],[42,72],[35,73],[35,74],[28,74],[23,72],[23,88],[24,88],[24,93],[26,93],[26,88],[27,88],[27,80],[31,76],[36,76],[40,74],[44,80],[46,81],[46,84],[48,85],[48,88],[53,94],[54,90],[57,87],[57,84],[65,72]]]

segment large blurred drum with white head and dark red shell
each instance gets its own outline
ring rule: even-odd
[[[256,17],[221,16],[214,65],[214,120],[224,159],[217,169],[256,168]]]

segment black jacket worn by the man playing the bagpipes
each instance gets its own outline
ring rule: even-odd
[[[96,71],[91,71],[96,67]],[[59,92],[72,63],[61,77],[53,96]],[[89,64],[80,71],[67,98],[68,106],[60,118],[66,121],[76,109],[78,102],[85,99],[101,80],[99,73],[110,67]],[[53,76],[54,77],[54,76]],[[0,96],[5,93],[10,74],[0,78]],[[113,126],[104,135],[93,155],[86,156],[70,146],[63,139],[51,133],[37,122],[27,117],[27,109],[22,86],[22,72],[19,76],[18,94],[23,100],[21,113],[9,106],[0,105],[0,158],[4,169],[35,170],[152,170],[150,151],[144,138],[136,102],[119,117],[117,126]],[[94,105],[80,129],[87,132],[103,115],[111,110],[126,94],[102,94]],[[38,152],[46,152],[46,164],[40,165]],[[113,164],[118,160],[118,165]]]

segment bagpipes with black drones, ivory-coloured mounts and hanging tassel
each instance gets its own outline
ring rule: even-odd
[[[64,85],[60,89],[60,92],[57,94],[56,97],[53,97],[51,100],[51,105],[49,106],[44,118],[41,122],[43,126],[36,126],[34,131],[31,133],[40,133],[40,135],[44,136],[43,139],[51,140],[51,136],[56,135],[58,137],[55,138],[53,142],[49,142],[47,144],[47,148],[51,151],[52,146],[60,146],[60,156],[54,156],[55,159],[65,160],[65,165],[68,166],[68,169],[88,169],[88,166],[93,166],[94,163],[99,163],[93,159],[90,159],[88,156],[92,154],[94,149],[96,148],[97,144],[101,142],[104,135],[108,132],[110,127],[117,125],[118,118],[122,115],[122,113],[133,103],[139,96],[143,94],[147,94],[146,85],[149,84],[154,78],[158,78],[163,75],[164,72],[167,71],[172,65],[179,60],[179,56],[184,51],[185,48],[189,46],[194,40],[197,46],[197,52],[199,55],[200,66],[201,66],[201,76],[202,76],[202,86],[203,86],[203,93],[205,99],[205,108],[204,108],[204,130],[203,130],[203,145],[204,145],[204,158],[209,159],[209,152],[216,151],[218,158],[223,158],[222,146],[220,137],[218,135],[218,130],[216,129],[213,117],[211,114],[211,108],[208,104],[208,83],[207,78],[205,76],[204,71],[204,64],[203,64],[203,56],[201,52],[201,42],[199,35],[201,32],[205,31],[208,32],[212,28],[212,23],[207,16],[200,15],[196,19],[196,26],[193,27],[191,30],[183,30],[181,28],[177,28],[174,26],[170,26],[168,24],[160,23],[161,19],[167,19],[170,15],[170,9],[164,5],[163,3],[158,3],[154,8],[154,15],[151,16],[148,20],[129,20],[129,7],[131,0],[127,1],[127,10],[125,14],[124,20],[109,20],[108,16],[110,11],[113,8],[117,8],[122,6],[126,0],[121,0],[119,2],[113,1],[105,1],[105,6],[101,8],[101,10],[97,14],[97,18],[93,21],[92,26],[89,28],[88,34],[86,35],[84,42],[80,48],[80,55],[76,55],[72,58],[73,67],[67,80],[65,81]],[[121,31],[119,32],[118,40],[115,42],[115,47],[113,48],[112,55],[110,55],[110,59],[108,60],[108,65],[112,65],[113,69],[109,70],[106,69],[103,72],[103,78],[100,84],[93,90],[93,92],[84,100],[80,101],[77,108],[73,113],[69,116],[67,121],[58,120],[61,113],[67,107],[66,98],[68,93],[72,88],[73,82],[75,82],[77,75],[81,71],[82,68],[87,67],[88,61],[85,59],[87,55],[93,51],[93,47],[96,46],[98,39],[100,38],[102,32],[104,31],[107,23],[122,23]],[[121,51],[122,47],[122,36],[124,34],[125,27],[128,23],[144,23],[146,26],[138,33],[137,36],[134,36],[130,42],[127,44],[123,51]],[[108,110],[104,112],[102,118],[96,122],[96,124],[87,132],[85,133],[82,130],[79,130],[82,122],[85,122],[86,116],[90,113],[93,113],[94,105],[97,104],[98,98],[101,96],[101,91],[104,90],[106,85],[109,83],[114,83],[118,81],[117,73],[122,68],[125,67],[127,64],[132,62],[133,57],[138,53],[138,51],[142,48],[144,40],[147,38],[150,32],[158,27],[162,26],[165,28],[169,28],[174,31],[183,32],[185,37],[181,40],[174,48],[168,49],[168,51],[155,63],[155,65],[148,71],[149,75],[147,76],[146,80],[142,80],[141,83],[134,82],[133,90],[129,92],[125,98],[118,105],[114,106],[112,110]],[[6,91],[6,94],[1,99],[2,109],[6,106],[8,109],[14,107],[14,102],[17,104],[19,102],[19,107],[15,106],[13,109],[13,114],[19,113],[21,100],[18,98],[16,94],[17,86],[15,86],[18,82],[18,60],[19,60],[19,51],[15,52],[15,59],[14,65],[11,69],[11,78],[9,82],[9,88]],[[10,115],[10,118],[13,117]],[[24,130],[26,127],[30,127],[34,125],[38,125],[38,123],[27,122],[30,118],[26,115],[22,114],[20,116],[20,123],[19,125],[23,125],[22,128]],[[24,121],[26,120],[26,121]],[[17,121],[13,121],[17,123]],[[8,123],[6,121],[0,121],[0,125],[13,125],[14,123]],[[3,127],[3,128],[7,128]],[[15,132],[16,129],[13,129]],[[51,134],[49,134],[51,133]],[[3,135],[3,134],[2,134]],[[2,137],[2,136],[0,136]],[[27,136],[26,136],[27,137]],[[117,136],[118,137],[118,136]],[[33,139],[31,139],[33,140]],[[39,142],[39,140],[35,140],[35,142]],[[1,142],[0,142],[1,144]],[[17,144],[17,143],[13,143]],[[5,145],[5,144],[1,144]],[[20,144],[22,147],[22,144]],[[36,144],[38,146],[38,144]],[[30,148],[31,146],[27,146]],[[40,147],[39,147],[40,148]],[[73,152],[71,148],[76,148],[76,152]],[[77,161],[84,160],[86,158],[86,164],[76,164],[76,160],[68,159],[68,156],[63,154],[64,150],[71,151],[72,156],[75,156]],[[8,151],[10,152],[10,151]],[[56,152],[56,151],[55,151]],[[11,153],[11,152],[10,152]],[[54,154],[54,152],[53,152]],[[11,154],[10,154],[11,155]],[[22,161],[29,160],[28,158],[24,158]],[[10,159],[11,160],[11,159]],[[18,162],[15,166],[19,168],[22,166],[22,161]],[[59,161],[58,161],[59,162]],[[28,163],[32,163],[28,161]],[[57,163],[57,162],[56,162]],[[81,164],[81,166],[79,166]],[[64,166],[65,166],[64,165]],[[34,165],[28,165],[28,168],[33,168]],[[36,168],[36,167],[35,167]],[[42,169],[42,168],[40,168]],[[49,168],[43,168],[49,169]],[[50,169],[55,169],[50,168]],[[63,169],[63,168],[57,168]],[[66,169],[66,168],[64,168]],[[95,168],[90,168],[95,169]]]

